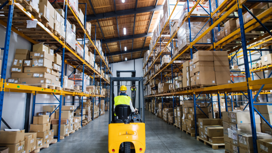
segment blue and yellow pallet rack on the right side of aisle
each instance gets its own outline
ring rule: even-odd
[[[179,2],[179,1],[178,1]],[[254,101],[257,102],[256,98],[258,97],[259,94],[271,94],[271,92],[261,92],[262,90],[270,90],[272,85],[272,78],[270,78],[272,72],[270,72],[270,74],[267,76],[267,78],[263,78],[263,79],[258,79],[258,80],[254,80],[253,79],[253,72],[258,70],[258,71],[264,71],[267,69],[271,69],[270,66],[266,69],[265,68],[257,68],[257,69],[249,69],[249,59],[248,59],[248,54],[250,57],[250,63],[252,63],[251,60],[251,52],[252,51],[258,51],[261,54],[261,51],[271,51],[272,49],[262,49],[264,47],[270,46],[270,44],[264,44],[265,42],[268,42],[270,39],[267,39],[265,41],[262,42],[258,42],[259,40],[262,40],[264,38],[270,37],[272,36],[272,33],[264,26],[263,23],[268,22],[269,20],[272,19],[272,16],[270,15],[272,12],[272,7],[268,8],[267,10],[265,10],[263,13],[261,13],[260,15],[258,15],[258,17],[255,17],[249,10],[251,8],[254,8],[256,5],[258,5],[260,2],[272,2],[272,1],[262,1],[262,0],[245,0],[245,1],[239,1],[239,0],[225,0],[224,2],[222,2],[221,5],[217,4],[217,1],[215,1],[216,3],[216,9],[212,12],[211,10],[211,1],[209,0],[209,9],[210,11],[207,12],[209,14],[209,16],[206,16],[206,21],[207,23],[210,24],[210,27],[203,32],[198,38],[196,38],[194,41],[191,40],[191,27],[190,27],[190,19],[193,17],[200,17],[200,16],[191,16],[191,13],[193,12],[193,10],[196,8],[197,5],[200,5],[203,3],[203,1],[200,0],[195,0],[195,5],[194,7],[191,9],[191,11],[188,8],[188,15],[185,17],[185,19],[183,20],[182,24],[188,20],[189,23],[189,31],[190,31],[190,45],[185,47],[182,51],[180,51],[178,53],[178,55],[176,57],[172,56],[172,47],[173,44],[175,42],[174,37],[177,34],[177,31],[179,30],[179,28],[173,32],[173,35],[171,36],[170,40],[167,42],[167,44],[165,44],[164,46],[168,46],[168,44],[170,44],[170,52],[171,52],[171,61],[170,63],[167,63],[166,66],[163,66],[160,70],[158,70],[156,72],[156,68],[155,68],[155,63],[160,63],[161,64],[161,55],[163,55],[163,52],[166,50],[166,48],[164,48],[164,50],[160,51],[160,54],[157,55],[157,57],[155,57],[155,47],[158,41],[160,41],[160,46],[161,47],[161,35],[164,32],[164,29],[166,28],[166,26],[171,25],[171,16],[174,12],[174,10],[176,9],[176,6],[178,5],[178,2],[176,2],[176,5],[171,13],[171,15],[169,14],[169,19],[167,20],[167,23],[165,23],[165,25],[160,25],[160,26],[164,26],[163,30],[160,31],[160,35],[159,38],[157,40],[154,40],[154,47],[152,48],[152,50],[150,50],[151,52],[153,52],[153,63],[150,64],[150,66],[148,66],[148,71],[144,74],[144,76],[146,76],[148,73],[151,74],[151,69],[154,70],[154,75],[152,75],[149,79],[158,79],[160,81],[162,81],[162,79],[164,78],[164,80],[166,81],[172,81],[173,79],[176,78],[176,76],[179,75],[179,73],[181,72],[181,66],[177,66],[174,61],[178,60],[178,58],[182,55],[182,54],[190,54],[191,55],[191,59],[192,59],[192,54],[193,51],[197,51],[197,49],[194,47],[194,44],[197,43],[197,41],[199,41],[201,38],[203,38],[203,36],[205,36],[208,32],[212,31],[212,40],[213,43],[210,43],[211,46],[205,48],[205,50],[229,50],[228,54],[231,54],[229,56],[230,60],[229,63],[231,63],[233,65],[233,61],[234,57],[236,57],[237,59],[237,53],[239,52],[240,49],[242,49],[242,51],[240,51],[239,53],[243,53],[243,58],[244,58],[244,65],[245,65],[245,71],[243,71],[243,73],[246,74],[246,81],[245,82],[239,82],[239,83],[234,83],[232,82],[232,84],[225,84],[225,85],[219,85],[219,86],[213,86],[213,87],[204,87],[204,88],[198,88],[198,89],[191,89],[191,90],[184,90],[184,91],[177,91],[177,92],[170,92],[170,93],[162,93],[162,94],[155,94],[155,95],[148,95],[145,96],[145,98],[150,100],[152,99],[152,97],[162,97],[162,102],[160,103],[161,105],[164,105],[164,100],[166,97],[173,97],[173,107],[176,106],[174,99],[176,99],[176,97],[178,96],[180,98],[180,96],[189,96],[190,100],[194,100],[194,114],[196,114],[196,107],[198,107],[200,109],[200,107],[197,105],[198,102],[196,102],[196,99],[198,99],[198,97],[202,94],[205,94],[207,97],[209,97],[209,99],[211,99],[209,101],[209,105],[212,105],[212,112],[213,112],[213,103],[218,103],[220,106],[220,96],[224,96],[225,97],[225,106],[228,106],[227,104],[229,102],[231,102],[231,106],[232,106],[232,110],[233,110],[233,102],[237,102],[237,99],[233,99],[233,96],[236,95],[243,95],[245,96],[246,99],[248,99],[248,106],[249,106],[249,111],[250,111],[250,118],[251,118],[251,131],[252,131],[252,138],[253,138],[253,148],[254,148],[254,153],[257,153],[257,145],[256,145],[256,127],[255,127],[255,119],[254,119],[254,111],[256,111],[261,118],[270,126],[270,128],[272,128],[272,126],[269,124],[268,121],[266,121],[264,119],[264,117],[254,108],[254,105],[260,105],[258,103],[253,104]],[[189,6],[189,1],[185,1],[187,2],[187,5]],[[168,7],[169,8],[169,7]],[[219,11],[220,10],[220,11]],[[222,15],[222,13],[225,11],[225,14]],[[232,17],[229,16],[231,13],[233,13],[234,11],[238,12],[238,17]],[[254,18],[253,20],[249,21],[246,24],[243,24],[243,14],[245,12],[249,12],[249,14],[252,15],[252,17]],[[169,10],[170,12],[170,10]],[[203,16],[202,16],[203,17]],[[213,17],[215,17],[213,20]],[[221,40],[215,42],[215,38],[214,38],[214,28],[218,27],[220,29],[220,24],[222,24],[223,21],[230,19],[230,18],[238,18],[239,23],[240,23],[240,29],[235,30],[234,32],[232,32],[231,34],[225,36],[224,38],[222,38]],[[224,22],[223,22],[224,23]],[[160,24],[160,23],[159,23]],[[266,31],[266,33],[264,33],[263,35],[259,35],[258,37],[256,37],[256,39],[249,39],[246,37],[246,33],[255,30],[255,29],[260,29],[258,27],[263,28],[261,31]],[[245,29],[246,28],[246,29]],[[228,49],[228,44],[231,44],[232,41],[239,39],[238,41],[241,41],[241,43],[239,44],[235,44],[233,46],[236,47],[232,47],[231,49]],[[249,46],[250,44],[256,43],[258,42],[258,44]],[[198,43],[199,44],[199,43]],[[208,43],[209,44],[209,43]],[[263,44],[262,47],[260,48],[256,48],[256,46]],[[247,46],[249,46],[247,48]],[[253,48],[254,47],[254,48]],[[253,48],[253,49],[251,49]],[[249,53],[248,53],[249,51]],[[235,54],[232,54],[233,52],[235,52]],[[151,62],[151,54],[148,57],[149,62]],[[148,61],[146,61],[146,63],[143,64],[143,69],[145,69],[145,66],[148,65],[147,64]],[[236,60],[236,63],[238,65],[238,60]],[[154,65],[154,66],[153,66]],[[176,68],[174,69],[173,66],[175,66]],[[169,68],[169,69],[167,69]],[[167,70],[168,74],[165,73],[164,70]],[[156,72],[156,73],[155,73]],[[250,77],[250,72],[252,72],[252,78]],[[163,75],[164,73],[164,75]],[[177,75],[175,75],[175,73]],[[148,84],[148,80],[146,80],[146,83],[144,85]],[[156,86],[154,86],[154,89],[156,90]],[[255,91],[255,92],[252,92]],[[257,92],[256,92],[257,91]],[[247,93],[244,93],[247,92]],[[221,94],[220,94],[221,93]],[[231,95],[231,101],[227,100],[227,97]],[[247,95],[247,96],[246,96]],[[254,98],[253,98],[254,95]],[[217,96],[217,101],[213,101],[212,96]],[[164,98],[165,97],[165,98]],[[179,99],[180,100],[180,99]],[[241,99],[242,100],[242,99]],[[155,98],[155,104],[157,103],[156,98]],[[267,104],[265,104],[267,105]],[[246,106],[247,107],[247,106]],[[245,107],[245,108],[246,108]],[[201,109],[200,109],[201,110]],[[202,110],[201,110],[202,111]],[[228,107],[226,107],[226,111],[228,111]],[[202,111],[203,112],[203,111]],[[156,113],[156,105],[155,105],[155,113]],[[204,113],[205,114],[205,113]],[[212,117],[214,118],[213,114]],[[221,110],[219,107],[219,117],[221,118]],[[197,129],[197,123],[196,123],[196,116],[195,116],[195,129]],[[198,135],[198,133],[196,133],[196,136]]]

